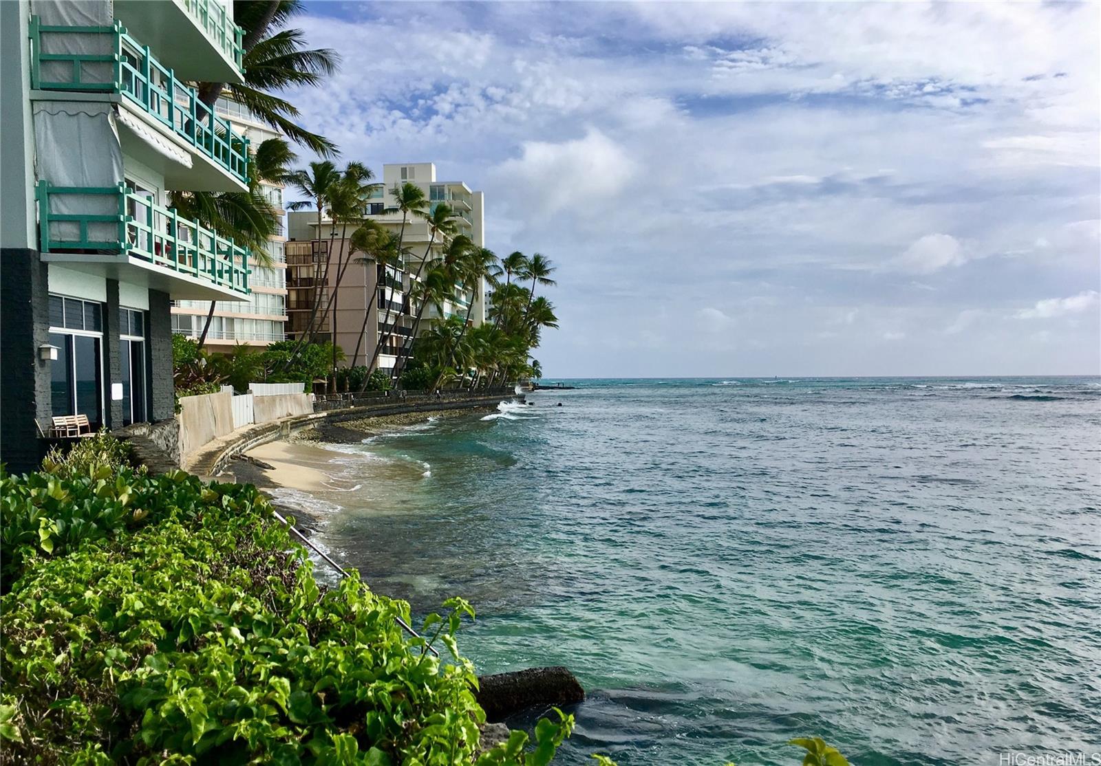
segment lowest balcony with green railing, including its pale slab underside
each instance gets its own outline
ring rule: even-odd
[[[43,261],[195,300],[246,300],[249,251],[126,186],[40,180]]]

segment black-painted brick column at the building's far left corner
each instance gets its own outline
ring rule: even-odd
[[[39,347],[50,342],[48,291],[36,251],[0,249],[0,462],[11,473],[37,469],[45,453],[39,429],[51,426],[52,362],[39,358]]]

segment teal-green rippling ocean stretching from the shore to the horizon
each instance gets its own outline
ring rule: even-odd
[[[556,763],[1101,752],[1101,379],[564,383],[280,491],[375,591],[470,600],[480,672],[574,670]]]

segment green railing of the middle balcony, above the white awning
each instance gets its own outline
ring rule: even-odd
[[[55,43],[67,35],[99,36],[110,44],[105,53],[46,53],[43,35]],[[51,45],[50,47],[63,47]],[[43,73],[43,68],[46,73]],[[52,79],[53,72],[62,76]],[[212,160],[243,184],[249,183],[249,140],[233,132],[229,121],[199,101],[195,88],[184,85],[118,21],[113,26],[47,26],[31,18],[31,87],[121,94],[167,127],[197,152]]]

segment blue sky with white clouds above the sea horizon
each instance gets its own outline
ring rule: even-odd
[[[1101,372],[1101,3],[309,2],[340,162],[557,266],[566,376]],[[303,157],[304,160],[308,157]]]

